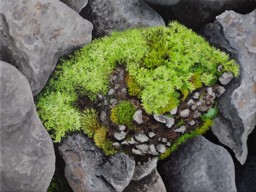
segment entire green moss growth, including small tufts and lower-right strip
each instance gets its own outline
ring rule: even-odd
[[[228,54],[209,46],[202,37],[177,21],[168,27],[114,31],[110,37],[93,40],[77,50],[70,59],[60,60],[62,63],[56,66],[45,90],[37,96],[38,115],[54,142],[60,142],[72,131],[82,131],[94,138],[95,144],[107,155],[117,152],[112,145],[117,124],[125,124],[136,133],[133,129],[136,123],[131,122],[135,107],[142,109],[149,119],[153,113],[170,116],[170,110],[182,106],[193,91],[215,84],[219,75],[232,72],[237,77],[239,74],[238,65]],[[219,72],[220,64],[223,68]],[[111,75],[118,68],[125,70],[124,82],[129,95],[116,98],[119,104],[112,108],[113,122],[104,125],[99,119],[104,106],[99,105],[97,97],[113,97],[108,91]],[[97,109],[88,108],[88,104],[82,109],[81,98],[89,98]],[[123,100],[130,100],[130,103]],[[172,145],[160,159],[180,143],[204,133],[215,115],[213,108],[203,114],[198,127],[184,134],[175,133]],[[106,117],[111,119],[111,112]],[[181,120],[176,120],[176,124]],[[146,128],[138,127],[138,131],[143,129]]]

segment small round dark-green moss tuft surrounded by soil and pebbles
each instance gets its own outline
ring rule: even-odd
[[[122,101],[111,110],[111,120],[118,125],[123,124],[129,129],[133,129],[133,115],[136,111],[136,108],[130,101]]]

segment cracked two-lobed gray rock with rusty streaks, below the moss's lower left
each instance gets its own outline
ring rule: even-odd
[[[68,136],[59,147],[65,176],[73,191],[123,191],[134,173],[135,161],[124,153],[107,158],[93,140],[81,133]]]

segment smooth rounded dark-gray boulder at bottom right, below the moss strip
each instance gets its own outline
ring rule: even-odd
[[[236,191],[230,154],[202,136],[180,145],[161,165],[161,173],[167,191]]]

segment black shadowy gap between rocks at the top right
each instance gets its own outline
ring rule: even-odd
[[[211,5],[213,4],[210,2]],[[186,27],[193,29],[195,32],[209,22],[214,22],[216,16],[220,15],[226,10],[233,10],[240,14],[247,14],[256,8],[256,1],[252,0],[226,0],[223,6],[219,8],[218,3],[215,2],[217,7],[210,6],[206,1],[192,1],[181,0],[178,4],[173,6],[162,6],[159,4],[147,3],[149,7],[154,9],[163,18],[165,24],[171,20],[178,20]],[[207,6],[208,5],[208,6]],[[202,9],[202,10],[201,10]]]

